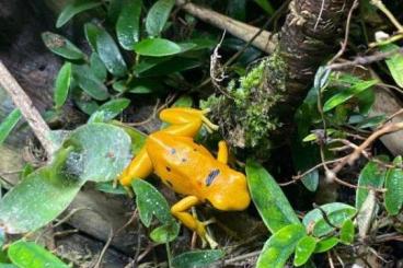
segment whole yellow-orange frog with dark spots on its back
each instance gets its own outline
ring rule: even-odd
[[[219,210],[244,210],[251,198],[245,175],[227,165],[228,148],[224,141],[219,142],[217,159],[194,142],[193,138],[203,124],[210,131],[217,129],[206,118],[207,112],[194,108],[163,109],[160,119],[171,125],[147,138],[146,144],[119,180],[127,186],[133,179],[156,173],[165,185],[185,196],[171,208],[172,214],[214,246],[215,242],[206,233],[207,223],[198,221],[187,211],[203,202],[209,202]]]

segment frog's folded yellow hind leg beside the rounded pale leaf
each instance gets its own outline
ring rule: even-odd
[[[142,148],[130,164],[123,171],[119,176],[120,184],[124,186],[130,185],[135,178],[146,178],[152,173],[152,163],[147,153],[146,148]]]

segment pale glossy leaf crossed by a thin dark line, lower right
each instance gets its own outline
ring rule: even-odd
[[[327,215],[327,220],[335,226],[341,226],[347,219],[352,219],[357,210],[346,203],[332,202],[321,206],[321,209]],[[314,209],[308,212],[302,220],[307,228],[313,226],[312,234],[316,237],[331,233],[334,228],[331,226],[324,219],[320,209]]]

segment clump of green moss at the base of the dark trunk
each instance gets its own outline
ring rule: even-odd
[[[212,110],[212,119],[231,145],[258,150],[257,154],[266,154],[273,147],[272,133],[281,127],[274,110],[285,92],[285,68],[274,54],[246,75],[231,81],[227,86],[229,96],[212,95],[202,102],[203,108]]]

